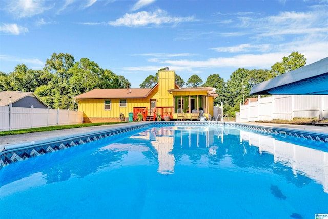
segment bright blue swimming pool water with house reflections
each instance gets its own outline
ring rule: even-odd
[[[0,169],[0,217],[314,218],[328,213],[326,144],[232,127],[126,132]]]

